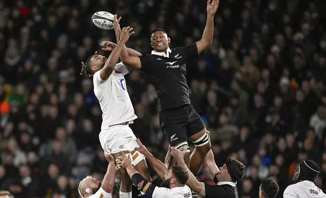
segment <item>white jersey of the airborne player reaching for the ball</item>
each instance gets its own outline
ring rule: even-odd
[[[103,112],[102,130],[123,122],[132,124],[137,119],[124,77],[128,73],[127,67],[118,63],[107,80],[101,79],[100,71],[93,76],[94,93]]]

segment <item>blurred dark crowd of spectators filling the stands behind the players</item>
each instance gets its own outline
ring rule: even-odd
[[[315,160],[326,182],[326,35],[323,1],[221,0],[214,41],[189,66],[191,102],[211,131],[215,160],[245,163],[239,197],[257,197],[269,176],[291,183],[297,163]],[[19,197],[77,197],[85,175],[101,178],[101,110],[80,62],[113,30],[91,23],[96,11],[122,16],[135,29],[128,46],[151,51],[149,31],[168,31],[171,46],[199,40],[202,0],[0,1],[0,184]],[[108,54],[106,54],[108,55]],[[159,129],[156,94],[132,71],[128,91],[134,133],[159,159],[168,144]],[[199,176],[206,180],[205,175]]]

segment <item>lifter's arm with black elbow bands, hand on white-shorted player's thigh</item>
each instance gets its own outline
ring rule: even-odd
[[[127,170],[128,175],[131,178],[131,181],[133,184],[142,192],[148,195],[148,197],[153,196],[153,192],[155,188],[157,188],[154,184],[151,182],[147,181],[141,174],[139,174],[136,169],[133,167],[131,164],[131,161],[124,155],[120,157],[120,160],[122,161],[117,161],[116,160],[116,165],[117,166],[122,166]]]

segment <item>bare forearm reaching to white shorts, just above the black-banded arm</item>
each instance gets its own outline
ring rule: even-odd
[[[142,142],[137,139],[136,140],[139,147],[135,147],[135,150],[139,153],[143,154],[148,162],[150,163],[151,167],[154,169],[156,174],[164,180],[164,175],[168,173],[168,168],[165,164],[163,164],[161,161],[159,161],[157,158],[155,158],[149,151],[146,149],[146,147],[142,144]]]

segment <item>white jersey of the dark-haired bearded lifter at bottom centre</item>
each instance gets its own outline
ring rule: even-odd
[[[153,198],[191,198],[191,190],[188,186],[175,187],[175,188],[165,188],[165,187],[155,187],[153,191]]]

